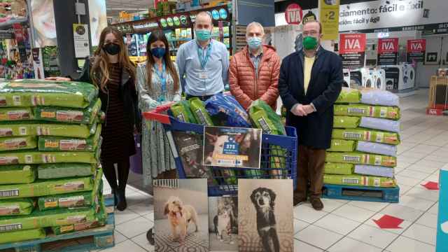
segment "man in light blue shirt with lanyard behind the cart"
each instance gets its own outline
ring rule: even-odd
[[[211,38],[211,15],[196,15],[195,39],[184,43],[176,55],[179,77],[187,99],[202,101],[223,92],[228,83],[229,53],[227,46]]]

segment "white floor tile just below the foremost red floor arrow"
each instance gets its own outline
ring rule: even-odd
[[[391,244],[393,239],[398,237],[398,235],[391,232],[379,230],[378,228],[373,228],[369,225],[361,225],[348,236],[379,248],[386,248],[388,244]]]

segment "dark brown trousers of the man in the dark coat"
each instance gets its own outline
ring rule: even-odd
[[[325,150],[299,146],[297,161],[297,199],[320,198],[322,195]]]

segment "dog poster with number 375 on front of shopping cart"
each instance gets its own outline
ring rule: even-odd
[[[262,130],[204,127],[204,165],[260,169]]]

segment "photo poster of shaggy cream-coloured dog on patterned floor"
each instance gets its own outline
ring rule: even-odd
[[[153,188],[155,251],[209,251],[207,179],[159,179]]]

